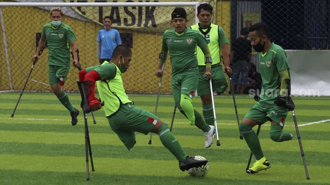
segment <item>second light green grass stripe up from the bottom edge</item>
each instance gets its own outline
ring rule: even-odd
[[[119,142],[118,136],[114,133],[89,133],[92,144],[103,145],[122,145]],[[13,137],[15,135],[15,137]],[[80,139],[79,139],[80,138]],[[176,135],[176,138],[182,146],[190,145],[194,141],[192,148],[203,148],[205,143],[204,133],[201,131],[199,135]],[[162,146],[159,138],[155,136],[153,145]],[[84,133],[62,133],[62,132],[34,132],[34,131],[0,131],[0,141],[2,142],[16,142],[16,143],[43,143],[43,144],[84,144]],[[136,146],[145,146],[149,141],[149,135],[137,133]],[[220,142],[230,149],[241,149],[247,147],[245,141],[233,137],[220,137]],[[269,138],[260,138],[261,143],[265,143],[264,150],[278,150],[275,146],[280,146],[283,150],[297,151],[299,145],[297,140],[284,143],[275,143]],[[270,144],[271,143],[271,144]],[[319,140],[303,140],[306,146],[304,151],[311,152],[327,152],[330,153],[330,141]],[[220,150],[223,147],[213,147],[214,150]]]

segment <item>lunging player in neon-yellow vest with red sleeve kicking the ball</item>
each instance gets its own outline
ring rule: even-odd
[[[111,61],[89,67],[79,72],[80,81],[92,81],[88,103],[93,111],[101,109],[101,102],[95,98],[95,81],[98,81],[100,98],[104,101],[104,111],[111,129],[117,133],[128,150],[135,142],[134,132],[157,133],[162,144],[177,158],[180,170],[205,165],[207,160],[195,160],[187,156],[179,142],[168,129],[167,123],[154,114],[134,106],[125,93],[121,74],[130,66],[131,50],[123,44],[118,45]]]

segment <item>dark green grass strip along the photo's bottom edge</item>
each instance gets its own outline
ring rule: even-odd
[[[109,170],[112,170],[111,168]],[[159,171],[160,173],[162,171]],[[173,171],[174,172],[174,171]],[[48,182],[46,179],[51,179],[51,184],[157,184],[168,185],[169,181],[171,184],[226,184],[226,185],[246,185],[246,184],[267,184],[267,185],[304,185],[310,184],[323,184],[313,180],[300,181],[300,182],[279,182],[274,180],[259,179],[254,177],[251,179],[230,179],[225,176],[218,175],[218,178],[204,177],[204,178],[192,178],[187,175],[186,172],[182,173],[182,176],[158,176],[158,175],[126,175],[126,174],[104,174],[98,171],[90,173],[90,181],[85,180],[85,173],[83,172],[53,172],[53,171],[24,171],[24,170],[0,170],[3,174],[2,181],[4,184],[15,184],[15,185],[26,185],[26,184],[45,184]],[[12,174],[20,174],[20,178],[10,178]],[[248,176],[249,174],[242,175],[242,177]],[[250,175],[252,176],[252,175]],[[259,175],[260,176],[260,175]],[[299,177],[301,174],[299,174]],[[24,179],[22,181],[21,179]],[[257,180],[255,180],[257,179]]]

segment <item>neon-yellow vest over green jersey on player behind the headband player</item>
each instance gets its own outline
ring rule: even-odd
[[[212,65],[220,63],[220,46],[222,44],[228,43],[226,34],[224,33],[222,27],[211,23],[209,28],[201,29],[203,32],[200,30],[199,24],[195,24],[190,28],[193,30],[198,30],[200,34],[203,35],[204,38],[209,42],[207,46],[211,52]],[[196,48],[196,55],[198,65],[205,66],[205,56],[199,47]]]

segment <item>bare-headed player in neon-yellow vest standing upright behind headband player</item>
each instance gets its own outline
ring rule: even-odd
[[[212,56],[212,87],[214,91],[221,94],[227,89],[226,77],[222,71],[220,49],[222,51],[224,67],[228,73],[231,73],[229,67],[229,50],[228,40],[221,26],[211,23],[213,8],[207,3],[203,3],[197,7],[197,18],[200,23],[192,25],[191,29],[199,30],[204,38],[209,42],[208,47]],[[202,99],[203,115],[208,125],[214,125],[214,115],[212,98],[210,92],[210,81],[205,78],[205,63],[204,54],[202,50],[197,47],[196,55],[198,59],[199,67],[199,82],[197,88],[197,94]]]

